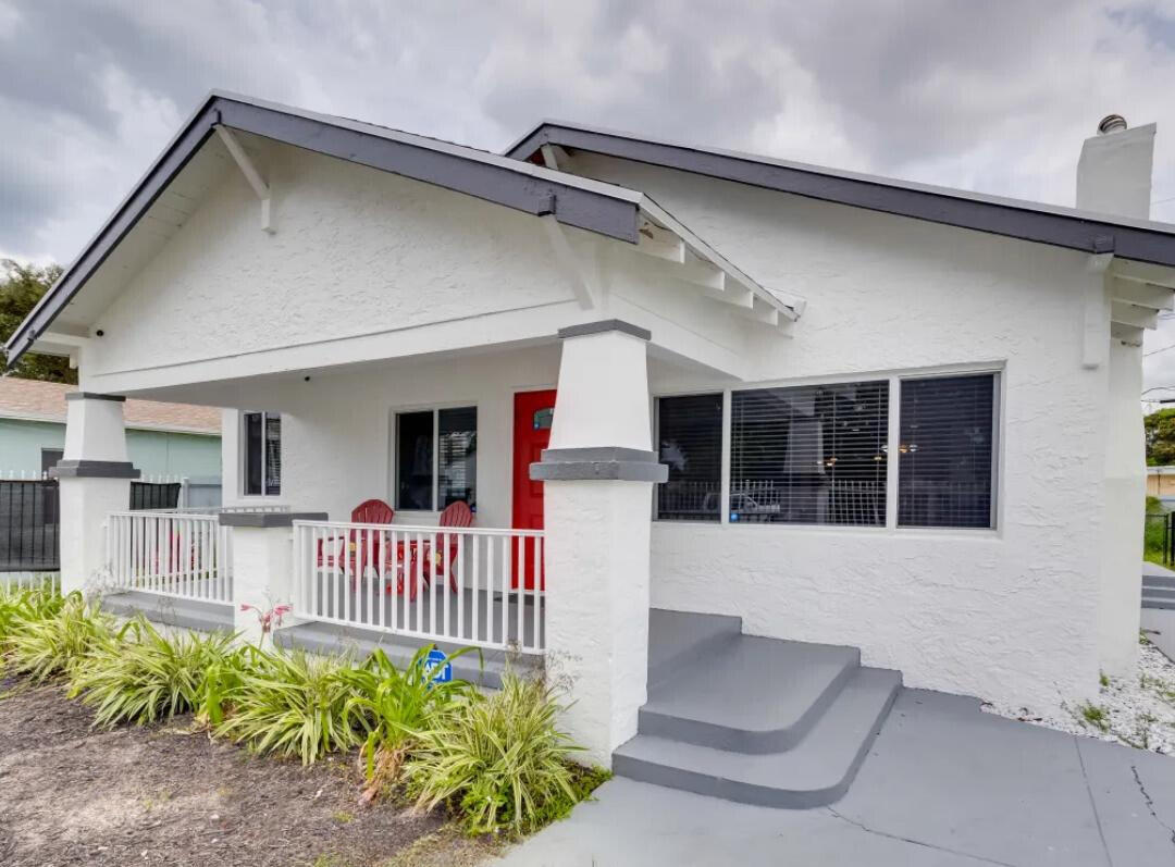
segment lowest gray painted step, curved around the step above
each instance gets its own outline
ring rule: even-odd
[[[612,769],[743,804],[832,804],[847,791],[900,687],[900,672],[857,668],[808,737],[787,752],[750,755],[638,734],[612,754]]]

